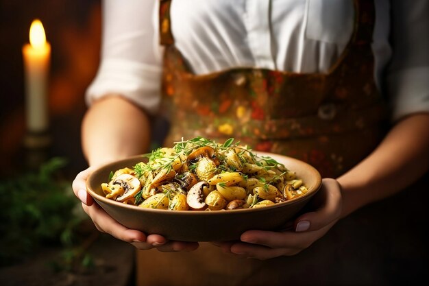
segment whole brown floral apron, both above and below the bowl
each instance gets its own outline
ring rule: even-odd
[[[354,1],[354,32],[327,73],[237,68],[195,75],[173,45],[170,5],[171,0],[160,1],[160,39],[165,46],[161,110],[171,123],[164,145],[195,136],[219,142],[234,137],[256,151],[304,160],[323,177],[335,178],[382,139],[386,112],[373,75],[373,1]],[[200,244],[199,250],[190,253],[139,252],[138,284],[308,282],[296,275],[306,276],[303,270],[309,269],[314,273],[320,260],[306,251],[270,261],[239,259],[210,243]],[[330,255],[320,249],[311,251],[319,257]]]

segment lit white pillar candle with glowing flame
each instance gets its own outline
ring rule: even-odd
[[[29,29],[29,44],[23,46],[25,68],[25,115],[27,131],[45,132],[49,126],[47,84],[51,45],[45,29],[34,20]]]

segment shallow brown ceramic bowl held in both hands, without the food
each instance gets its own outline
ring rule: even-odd
[[[169,211],[140,208],[104,197],[101,183],[107,182],[110,171],[134,167],[147,158],[134,156],[99,167],[91,174],[86,187],[94,200],[114,219],[147,234],[158,234],[176,241],[227,241],[239,239],[245,230],[280,230],[293,219],[321,186],[321,176],[312,166],[295,158],[255,152],[270,156],[295,171],[304,181],[308,192],[293,200],[262,208],[243,208],[230,211]]]

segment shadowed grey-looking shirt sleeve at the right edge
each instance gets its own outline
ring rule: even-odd
[[[429,112],[429,1],[392,0],[391,44],[386,88],[392,120]]]

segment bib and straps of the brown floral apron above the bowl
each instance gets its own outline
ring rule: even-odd
[[[372,1],[355,1],[350,43],[327,73],[238,68],[195,75],[173,45],[169,5],[161,1],[165,45],[162,112],[171,122],[164,141],[230,137],[256,151],[284,154],[337,177],[380,142],[385,118],[374,82]]]

